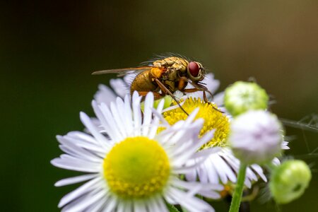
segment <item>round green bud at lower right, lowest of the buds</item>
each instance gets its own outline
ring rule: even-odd
[[[305,192],[312,179],[308,165],[302,160],[287,160],[271,175],[269,189],[278,204],[288,204]]]

